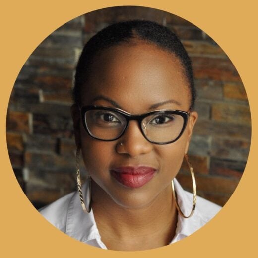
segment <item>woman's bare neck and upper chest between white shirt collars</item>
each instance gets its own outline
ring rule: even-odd
[[[115,250],[118,250],[119,244],[125,250],[125,246],[130,243],[127,250],[144,250],[167,245],[172,240],[176,230],[177,211],[170,185],[149,205],[137,209],[118,205],[94,181],[91,189],[96,224],[101,239],[108,248],[112,249],[113,243],[116,243]],[[143,240],[148,247],[142,246]],[[141,248],[136,247],[137,243],[140,243]]]

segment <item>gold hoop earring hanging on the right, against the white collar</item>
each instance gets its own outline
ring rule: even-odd
[[[177,193],[175,192],[175,187],[174,187],[174,181],[172,180],[171,181],[171,186],[172,186],[172,194],[173,194],[173,197],[175,199],[175,202],[176,202],[176,207],[177,207],[177,210],[178,212],[180,213],[181,216],[183,216],[184,218],[190,218],[193,214],[194,214],[194,210],[195,210],[195,206],[196,206],[196,199],[197,199],[197,194],[196,194],[196,182],[195,182],[195,177],[194,177],[194,169],[189,161],[189,158],[188,158],[188,155],[185,154],[185,159],[187,161],[187,164],[188,164],[188,167],[190,169],[190,172],[191,172],[191,176],[192,176],[192,181],[193,181],[193,189],[194,189],[194,199],[193,199],[193,207],[192,207],[192,210],[190,212],[190,215],[189,216],[186,216],[181,208],[179,207],[178,205],[178,201],[177,201]]]

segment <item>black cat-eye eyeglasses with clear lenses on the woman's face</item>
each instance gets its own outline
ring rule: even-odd
[[[151,143],[175,142],[184,132],[189,113],[181,110],[154,110],[132,115],[118,108],[84,106],[81,118],[87,133],[94,139],[113,141],[120,138],[130,120],[138,121],[143,136]]]

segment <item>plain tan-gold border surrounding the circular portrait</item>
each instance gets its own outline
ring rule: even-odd
[[[66,21],[85,12],[128,2],[87,3],[74,0],[45,0],[37,5],[35,1],[5,2],[1,8],[1,123],[5,125],[8,100],[14,81],[32,50]],[[146,5],[144,1],[130,1],[130,4]],[[62,11],[61,11],[62,6]],[[252,131],[257,131],[257,15],[252,1],[216,1],[212,6],[206,1],[181,1],[168,4],[167,1],[148,1],[148,6],[178,14],[192,21],[211,35],[236,65],[245,84],[252,111]],[[212,8],[211,8],[212,7]],[[58,15],[57,15],[58,13]],[[31,22],[33,20],[34,22]],[[21,29],[22,28],[22,29]],[[251,37],[252,35],[252,37]],[[251,40],[251,39],[252,40]],[[32,207],[22,193],[9,162],[5,128],[1,128],[1,233],[3,236],[1,254],[19,257],[46,256],[97,256],[120,257],[121,252],[92,248],[71,239],[51,226]],[[256,173],[257,135],[252,142],[245,173],[230,200],[222,211],[207,225],[187,239],[171,246],[145,252],[123,253],[124,257],[256,257]]]

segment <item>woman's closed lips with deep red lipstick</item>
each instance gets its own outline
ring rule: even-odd
[[[121,184],[130,188],[138,188],[147,184],[154,176],[156,169],[152,167],[119,167],[111,170],[111,175]]]

